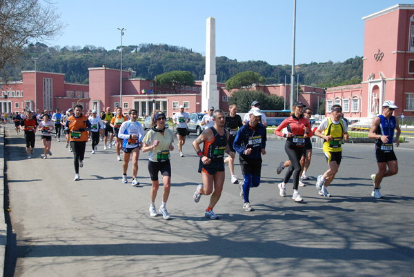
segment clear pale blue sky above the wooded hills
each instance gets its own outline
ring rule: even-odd
[[[112,50],[141,43],[175,45],[205,54],[206,20],[216,21],[216,56],[292,64],[294,0],[54,0],[66,25],[53,46]],[[297,0],[295,65],[343,62],[364,54],[364,20],[414,0]]]

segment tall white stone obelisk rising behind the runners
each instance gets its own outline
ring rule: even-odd
[[[215,19],[208,17],[206,31],[206,74],[201,83],[201,112],[208,111],[211,106],[219,109],[219,90],[215,67]]]

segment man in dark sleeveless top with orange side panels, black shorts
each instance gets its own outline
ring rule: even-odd
[[[193,147],[200,157],[199,170],[203,178],[203,184],[199,184],[194,193],[194,201],[199,202],[201,195],[210,195],[210,203],[204,216],[211,219],[219,219],[219,216],[213,212],[213,207],[219,201],[224,184],[224,152],[234,158],[235,153],[228,150],[227,130],[224,130],[226,115],[222,110],[216,110],[214,113],[215,124],[213,127],[205,129],[195,141]],[[200,150],[200,144],[204,143],[203,152]],[[214,192],[213,192],[214,188]],[[212,194],[213,192],[213,194]]]

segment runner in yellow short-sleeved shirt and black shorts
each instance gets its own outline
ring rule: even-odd
[[[348,140],[348,125],[341,119],[342,107],[333,105],[331,117],[324,119],[317,127],[315,135],[324,139],[322,151],[326,156],[329,169],[323,175],[317,176],[316,188],[319,195],[331,197],[326,187],[330,185],[337,174],[342,159],[342,139]],[[322,133],[323,132],[323,133]]]

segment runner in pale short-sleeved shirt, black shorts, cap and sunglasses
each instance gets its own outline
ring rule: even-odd
[[[148,171],[151,176],[150,216],[158,216],[155,209],[155,198],[159,188],[158,172],[161,172],[164,192],[162,194],[161,207],[159,207],[158,211],[164,219],[170,219],[166,204],[171,187],[170,151],[174,150],[174,146],[172,146],[174,134],[165,127],[166,114],[164,112],[155,110],[151,121],[151,130],[144,137],[144,147],[142,147],[143,153],[148,152]]]

